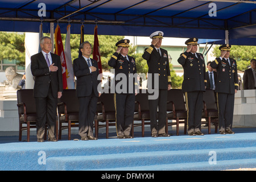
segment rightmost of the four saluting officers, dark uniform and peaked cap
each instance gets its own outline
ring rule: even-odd
[[[237,62],[229,57],[231,45],[219,47],[220,57],[210,64],[217,69],[216,89],[218,103],[218,123],[220,134],[234,134],[232,131],[234,94],[238,89]]]

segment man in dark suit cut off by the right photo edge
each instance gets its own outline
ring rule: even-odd
[[[256,59],[251,59],[251,68],[243,74],[243,89],[256,89]]]

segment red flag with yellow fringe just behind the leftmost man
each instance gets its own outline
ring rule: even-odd
[[[67,64],[65,59],[65,53],[63,49],[63,43],[60,34],[60,26],[57,25],[54,32],[54,39],[55,39],[55,54],[60,56],[61,61],[61,68],[62,68],[62,82],[63,82],[63,89],[68,89],[67,85]]]

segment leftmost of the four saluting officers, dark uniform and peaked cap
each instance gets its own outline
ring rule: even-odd
[[[109,66],[115,69],[115,78],[123,76],[120,80],[115,80],[115,126],[117,127],[117,137],[133,138],[131,137],[131,125],[133,124],[135,95],[137,94],[137,69],[134,57],[128,56],[129,39],[119,40],[115,46],[117,51],[109,60]],[[121,74],[121,75],[119,75]],[[114,78],[114,79],[115,79]],[[132,80],[130,78],[133,78]],[[119,82],[124,84],[117,88]],[[136,88],[135,88],[136,87]]]

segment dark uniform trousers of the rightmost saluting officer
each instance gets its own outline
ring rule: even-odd
[[[232,128],[234,113],[234,94],[217,93],[218,102],[218,130],[225,131]]]

